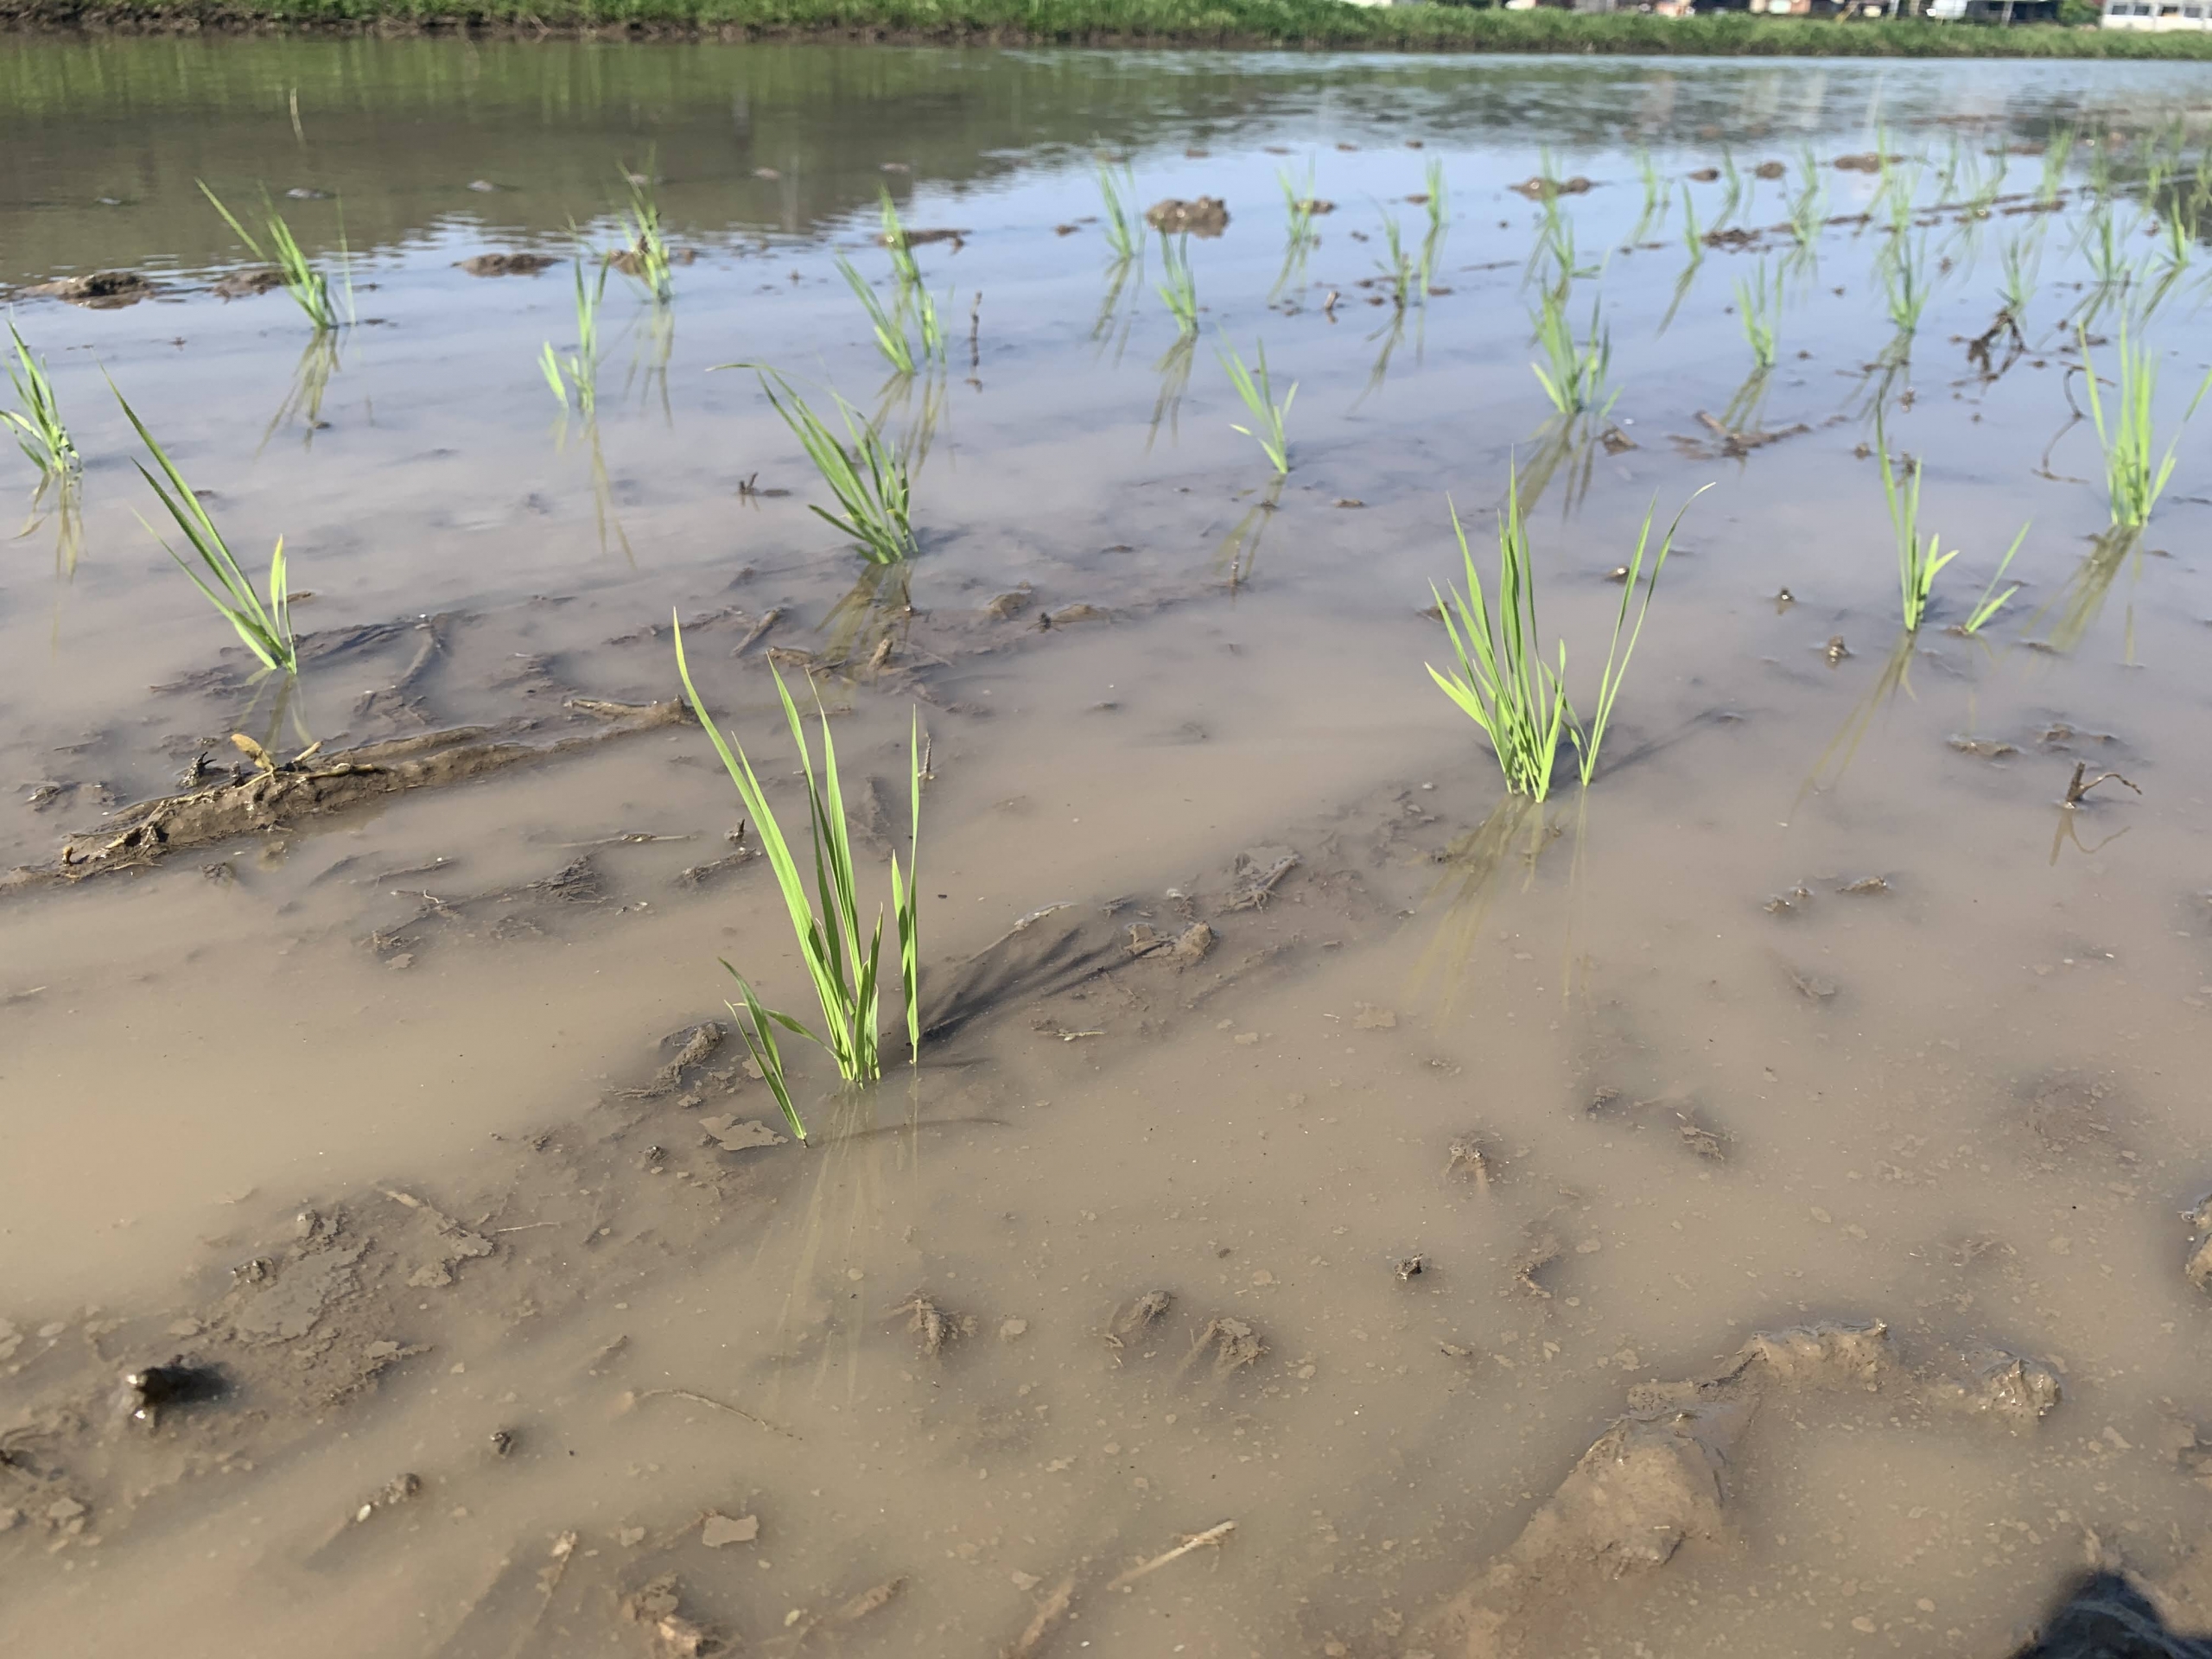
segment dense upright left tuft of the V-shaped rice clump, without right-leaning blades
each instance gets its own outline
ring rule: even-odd
[[[1495,611],[1484,597],[1482,573],[1475,568],[1458,507],[1451,507],[1451,531],[1460,540],[1467,588],[1455,588],[1449,597],[1436,593],[1436,608],[1451,639],[1453,668],[1447,672],[1425,664],[1429,679],[1491,741],[1506,794],[1544,801],[1551,794],[1559,739],[1571,723],[1566,641],[1559,641],[1559,666],[1546,664],[1537,644],[1535,562],[1517,480],[1506,484],[1506,504],[1498,515]]]

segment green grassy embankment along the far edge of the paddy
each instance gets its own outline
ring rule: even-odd
[[[1646,18],[1340,0],[0,0],[18,29],[489,29],[929,42],[1152,42],[1710,58],[2181,58],[2212,35],[1933,22]]]

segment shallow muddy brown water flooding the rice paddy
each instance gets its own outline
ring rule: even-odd
[[[2093,1557],[2185,1604],[2203,438],[2139,546],[2097,542],[2068,314],[2099,181],[2157,248],[2190,73],[46,40],[0,73],[35,161],[0,179],[0,281],[86,458],[0,564],[0,863],[97,847],[234,730],[566,745],[0,896],[11,1648],[2002,1655]],[[2099,144],[2055,212],[2006,212],[2059,124]],[[1115,288],[1095,146],[1141,204],[1230,206],[1190,352],[1157,243]],[[1641,230],[1639,146],[1670,192]],[[1927,161],[1909,354],[1880,179],[1832,166],[1878,146]],[[1827,223],[1794,257],[1807,150]],[[1765,234],[1686,272],[1723,155],[1725,226]],[[597,420],[564,420],[535,356],[573,341],[566,272],[456,261],[613,246],[624,161],[692,259],[666,310],[613,281]],[[1431,161],[1438,292],[1400,314],[1383,217],[1420,248]],[[1285,268],[1307,164],[1336,210]],[[1509,190],[1546,164],[1593,186],[1562,212],[1619,385],[1564,442]],[[210,292],[241,250],[195,177],[265,184],[332,270],[343,228],[327,352],[281,292]],[[951,349],[905,387],[834,265],[887,279],[885,186],[964,232],[918,250]],[[2022,349],[1978,367],[2037,226]],[[157,292],[31,292],[115,268]],[[2161,434],[2208,356],[2194,281],[2137,325]],[[1217,334],[1298,383],[1279,489]],[[920,456],[905,593],[856,586],[752,376],[708,374],[752,358]],[[137,522],[102,372],[250,568],[285,538],[294,688]],[[1964,549],[1918,639],[1876,409]],[[1584,701],[1646,507],[1712,484],[1599,781],[1542,812],[1500,810],[1420,668],[1447,495],[1484,551],[1515,465]],[[2022,520],[2024,591],[1942,633]],[[816,670],[876,887],[909,710],[929,734],[933,1033],[865,1099],[801,1057],[812,1148],[743,1146],[776,1113],[734,1037],[661,1073],[728,1024],[717,956],[805,995],[697,728],[568,706],[672,697],[670,611],[779,807],[765,653]],[[2075,761],[2141,794],[2066,812]],[[1126,949],[1197,920],[1199,960]],[[1823,1321],[1885,1321],[1891,1358],[1743,1396],[1717,1509],[1577,1520],[1632,1402]],[[2000,1354],[2064,1398],[2004,1411]],[[126,1422],[115,1378],[170,1356],[221,1398]],[[1535,1588],[1531,1522],[1564,1540]]]

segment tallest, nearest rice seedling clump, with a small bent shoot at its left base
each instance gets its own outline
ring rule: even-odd
[[[737,980],[739,995],[743,998],[743,1009],[730,1004],[730,1018],[737,1020],[739,1035],[745,1037],[745,1048],[761,1068],[761,1077],[776,1097],[776,1106],[783,1108],[783,1121],[790,1124],[796,1139],[805,1141],[807,1128],[792,1099],[790,1071],[776,1042],[776,1026],[825,1048],[836,1062],[838,1077],[849,1086],[872,1084],[883,1077],[883,909],[876,909],[872,925],[860,916],[858,869],[852,856],[852,830],[845,816],[836,737],[816,701],[816,717],[823,732],[821,770],[816,772],[814,754],[799,719],[799,703],[792,701],[790,686],[776,672],[783,719],[792,730],[792,743],[799,748],[799,765],[807,785],[807,838],[814,852],[814,894],[810,896],[799,874],[799,860],[792,856],[792,843],[783,834],[774,807],[768,803],[768,792],[761,787],[752,761],[745,757],[743,745],[721,734],[721,728],[714,726],[714,719],[706,710],[706,701],[699,697],[699,688],[692,684],[690,664],[684,659],[681,622],[677,622],[677,677],[684,681],[684,697],[690,701],[692,714],[706,728],[714,743],[714,754],[721,757],[730,783],[737,785],[737,794],[745,803],[770,867],[776,872],[776,887],[783,891],[783,907],[799,940],[799,956],[814,984],[814,1000],[821,1009],[821,1033],[787,1013],[763,1006],[752,982],[730,962],[723,962],[723,969]],[[898,852],[891,852],[891,916],[898,940],[898,991],[907,1018],[907,1060],[909,1064],[920,1064],[920,889],[916,883],[922,841],[920,717],[914,719],[909,739],[907,787],[911,816],[907,863],[900,867]]]

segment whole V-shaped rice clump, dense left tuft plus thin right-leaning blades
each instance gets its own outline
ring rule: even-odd
[[[1690,502],[1712,489],[1699,487]],[[1650,553],[1652,509],[1644,513],[1644,529],[1637,533],[1637,551],[1626,566],[1621,608],[1613,619],[1613,641],[1606,648],[1606,666],[1597,681],[1597,706],[1588,726],[1575,717],[1566,695],[1566,641],[1557,646],[1555,664],[1544,659],[1535,619],[1535,560],[1528,546],[1528,524],[1522,513],[1520,482],[1509,480],[1506,504],[1498,515],[1498,588],[1495,604],[1484,595],[1482,573],[1475,568],[1473,549],[1467,544],[1467,526],[1451,509],[1451,531],[1460,542],[1460,562],[1467,573],[1464,591],[1436,593],[1436,608],[1444,619],[1444,635],[1451,641],[1453,666],[1449,670],[1427,664],[1436,686],[1464,712],[1491,741],[1498,770],[1509,794],[1544,801],[1551,794],[1553,770],[1562,739],[1573,741],[1582,785],[1597,776],[1599,750],[1606,728],[1619,703],[1621,684],[1628,677],[1628,661],[1635,657],[1637,639],[1644,637],[1644,619],[1650,615],[1652,595],[1659,591],[1659,571],[1666,568],[1674,549],[1674,531],[1681,529],[1683,502],[1674,513],[1652,557],[1650,573],[1644,560]],[[1641,604],[1637,586],[1641,584]],[[1433,588],[1431,588],[1433,591]],[[1628,628],[1628,613],[1635,608],[1635,626]],[[1621,635],[1626,630],[1626,648]]]

